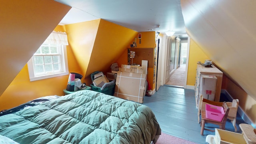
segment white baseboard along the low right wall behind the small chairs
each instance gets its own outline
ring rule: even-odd
[[[226,90],[221,90],[221,93],[225,94],[227,96],[228,100],[232,101],[233,98],[232,96],[226,91]],[[252,125],[254,128],[256,128],[256,125],[250,120],[250,118],[246,115],[246,113],[238,106],[237,110],[238,114],[241,116],[241,118],[246,122],[247,124]]]

